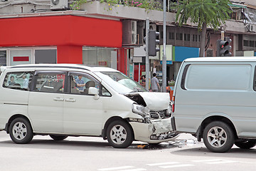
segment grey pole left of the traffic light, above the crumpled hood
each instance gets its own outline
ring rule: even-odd
[[[149,90],[149,18],[146,18],[146,90]]]

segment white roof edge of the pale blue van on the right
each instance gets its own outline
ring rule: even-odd
[[[256,62],[255,56],[186,58],[185,62]]]

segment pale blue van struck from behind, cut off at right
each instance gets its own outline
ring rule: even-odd
[[[176,133],[191,133],[212,152],[256,145],[256,58],[188,58],[174,88]]]

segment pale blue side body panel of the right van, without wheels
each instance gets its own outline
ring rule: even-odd
[[[253,88],[255,64],[189,64],[184,86],[179,74],[176,86],[176,129],[196,133],[205,118],[220,115],[231,120],[239,137],[256,138],[256,92]],[[181,70],[183,71],[183,70]]]

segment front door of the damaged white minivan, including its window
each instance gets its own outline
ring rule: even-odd
[[[88,94],[90,87],[100,88],[100,82],[87,73],[72,72],[68,78],[68,92],[64,95],[64,132],[101,135],[102,98]]]

